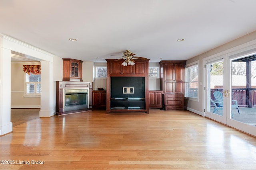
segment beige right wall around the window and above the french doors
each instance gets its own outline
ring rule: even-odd
[[[250,45],[255,44],[256,41],[256,31],[249,33],[243,37],[240,37],[238,39],[235,39],[234,41],[231,41],[229,43],[226,43],[224,45],[221,45],[220,47],[217,47],[215,49],[212,49],[210,51],[207,51],[206,53],[203,53],[201,55],[198,55],[196,57],[193,57],[191,59],[189,59],[186,64],[190,64],[193,63],[194,61],[199,61],[199,67],[198,67],[198,71],[199,71],[199,81],[200,86],[199,86],[199,101],[193,101],[193,100],[184,100],[184,106],[186,109],[193,111],[195,113],[198,114],[202,114],[203,113],[203,73],[204,73],[204,66],[203,66],[203,59],[216,55],[216,56],[221,56],[227,53],[231,53],[232,51],[236,51],[239,49],[243,49],[246,48]]]

